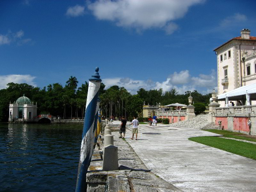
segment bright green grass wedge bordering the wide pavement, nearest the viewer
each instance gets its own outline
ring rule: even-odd
[[[256,160],[256,145],[252,143],[212,136],[190,137],[188,140]]]

